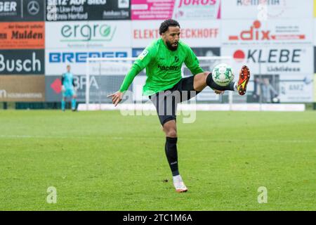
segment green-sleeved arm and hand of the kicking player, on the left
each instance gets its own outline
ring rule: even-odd
[[[154,54],[152,53],[152,49],[150,47],[147,47],[133,63],[131,69],[125,76],[119,91],[107,96],[112,97],[112,103],[114,104],[114,106],[117,106],[117,104],[123,99],[124,92],[129,89],[129,86],[133,82],[133,79],[136,77],[136,75],[138,75],[140,71],[146,68],[146,66],[150,63],[150,61],[152,60],[152,56],[154,56]]]

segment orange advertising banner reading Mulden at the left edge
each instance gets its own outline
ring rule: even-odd
[[[44,22],[0,23],[0,49],[44,49]]]

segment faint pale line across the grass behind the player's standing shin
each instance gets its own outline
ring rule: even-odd
[[[113,139],[113,140],[136,140],[136,139],[159,139],[161,137],[108,137],[108,136],[37,136],[37,135],[0,135],[0,139]],[[186,141],[211,141],[211,142],[239,142],[238,139],[225,139],[225,140],[218,140],[218,139],[194,139],[194,138],[181,138],[181,140]],[[282,143],[315,143],[315,141],[306,141],[306,140],[243,140],[243,142],[282,142]]]

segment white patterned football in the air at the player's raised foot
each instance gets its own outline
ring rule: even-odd
[[[232,68],[225,64],[220,63],[215,66],[212,72],[213,81],[219,86],[228,86],[234,79]]]

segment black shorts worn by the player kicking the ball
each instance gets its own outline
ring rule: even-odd
[[[162,126],[170,120],[176,120],[178,103],[187,101],[199,94],[199,91],[195,91],[193,88],[193,81],[194,76],[182,78],[171,89],[149,96],[156,107]]]

